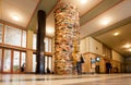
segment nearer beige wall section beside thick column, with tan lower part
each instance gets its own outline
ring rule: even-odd
[[[103,44],[98,42],[92,37],[86,37],[81,40],[80,51],[84,53],[85,63],[83,63],[83,72],[95,72],[96,65],[104,65],[102,62],[91,63],[91,58],[95,59],[97,56],[103,56]],[[100,66],[100,72],[104,72],[104,66]]]

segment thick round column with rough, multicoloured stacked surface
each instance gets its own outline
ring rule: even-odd
[[[74,41],[79,50],[79,12],[70,3],[59,3],[55,10],[55,73],[72,74]]]

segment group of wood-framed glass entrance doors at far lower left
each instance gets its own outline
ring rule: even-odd
[[[21,73],[21,68],[25,63],[26,53],[17,50],[3,49],[1,72]]]

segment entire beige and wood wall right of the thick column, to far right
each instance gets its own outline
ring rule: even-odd
[[[100,62],[96,62],[94,65],[99,65],[99,72],[106,72],[106,61],[111,61],[112,64],[112,73],[116,72],[116,68],[118,69],[117,72],[123,72],[123,62],[124,58],[116,51],[112,52],[112,59],[103,57],[103,44],[95,40],[92,37],[86,37],[81,40],[80,50],[84,53],[85,63],[83,63],[83,72],[92,72],[93,64],[91,63],[91,58],[95,59],[96,57],[100,57]]]

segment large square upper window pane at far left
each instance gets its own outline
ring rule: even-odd
[[[22,29],[5,26],[4,42],[14,46],[21,46]]]

